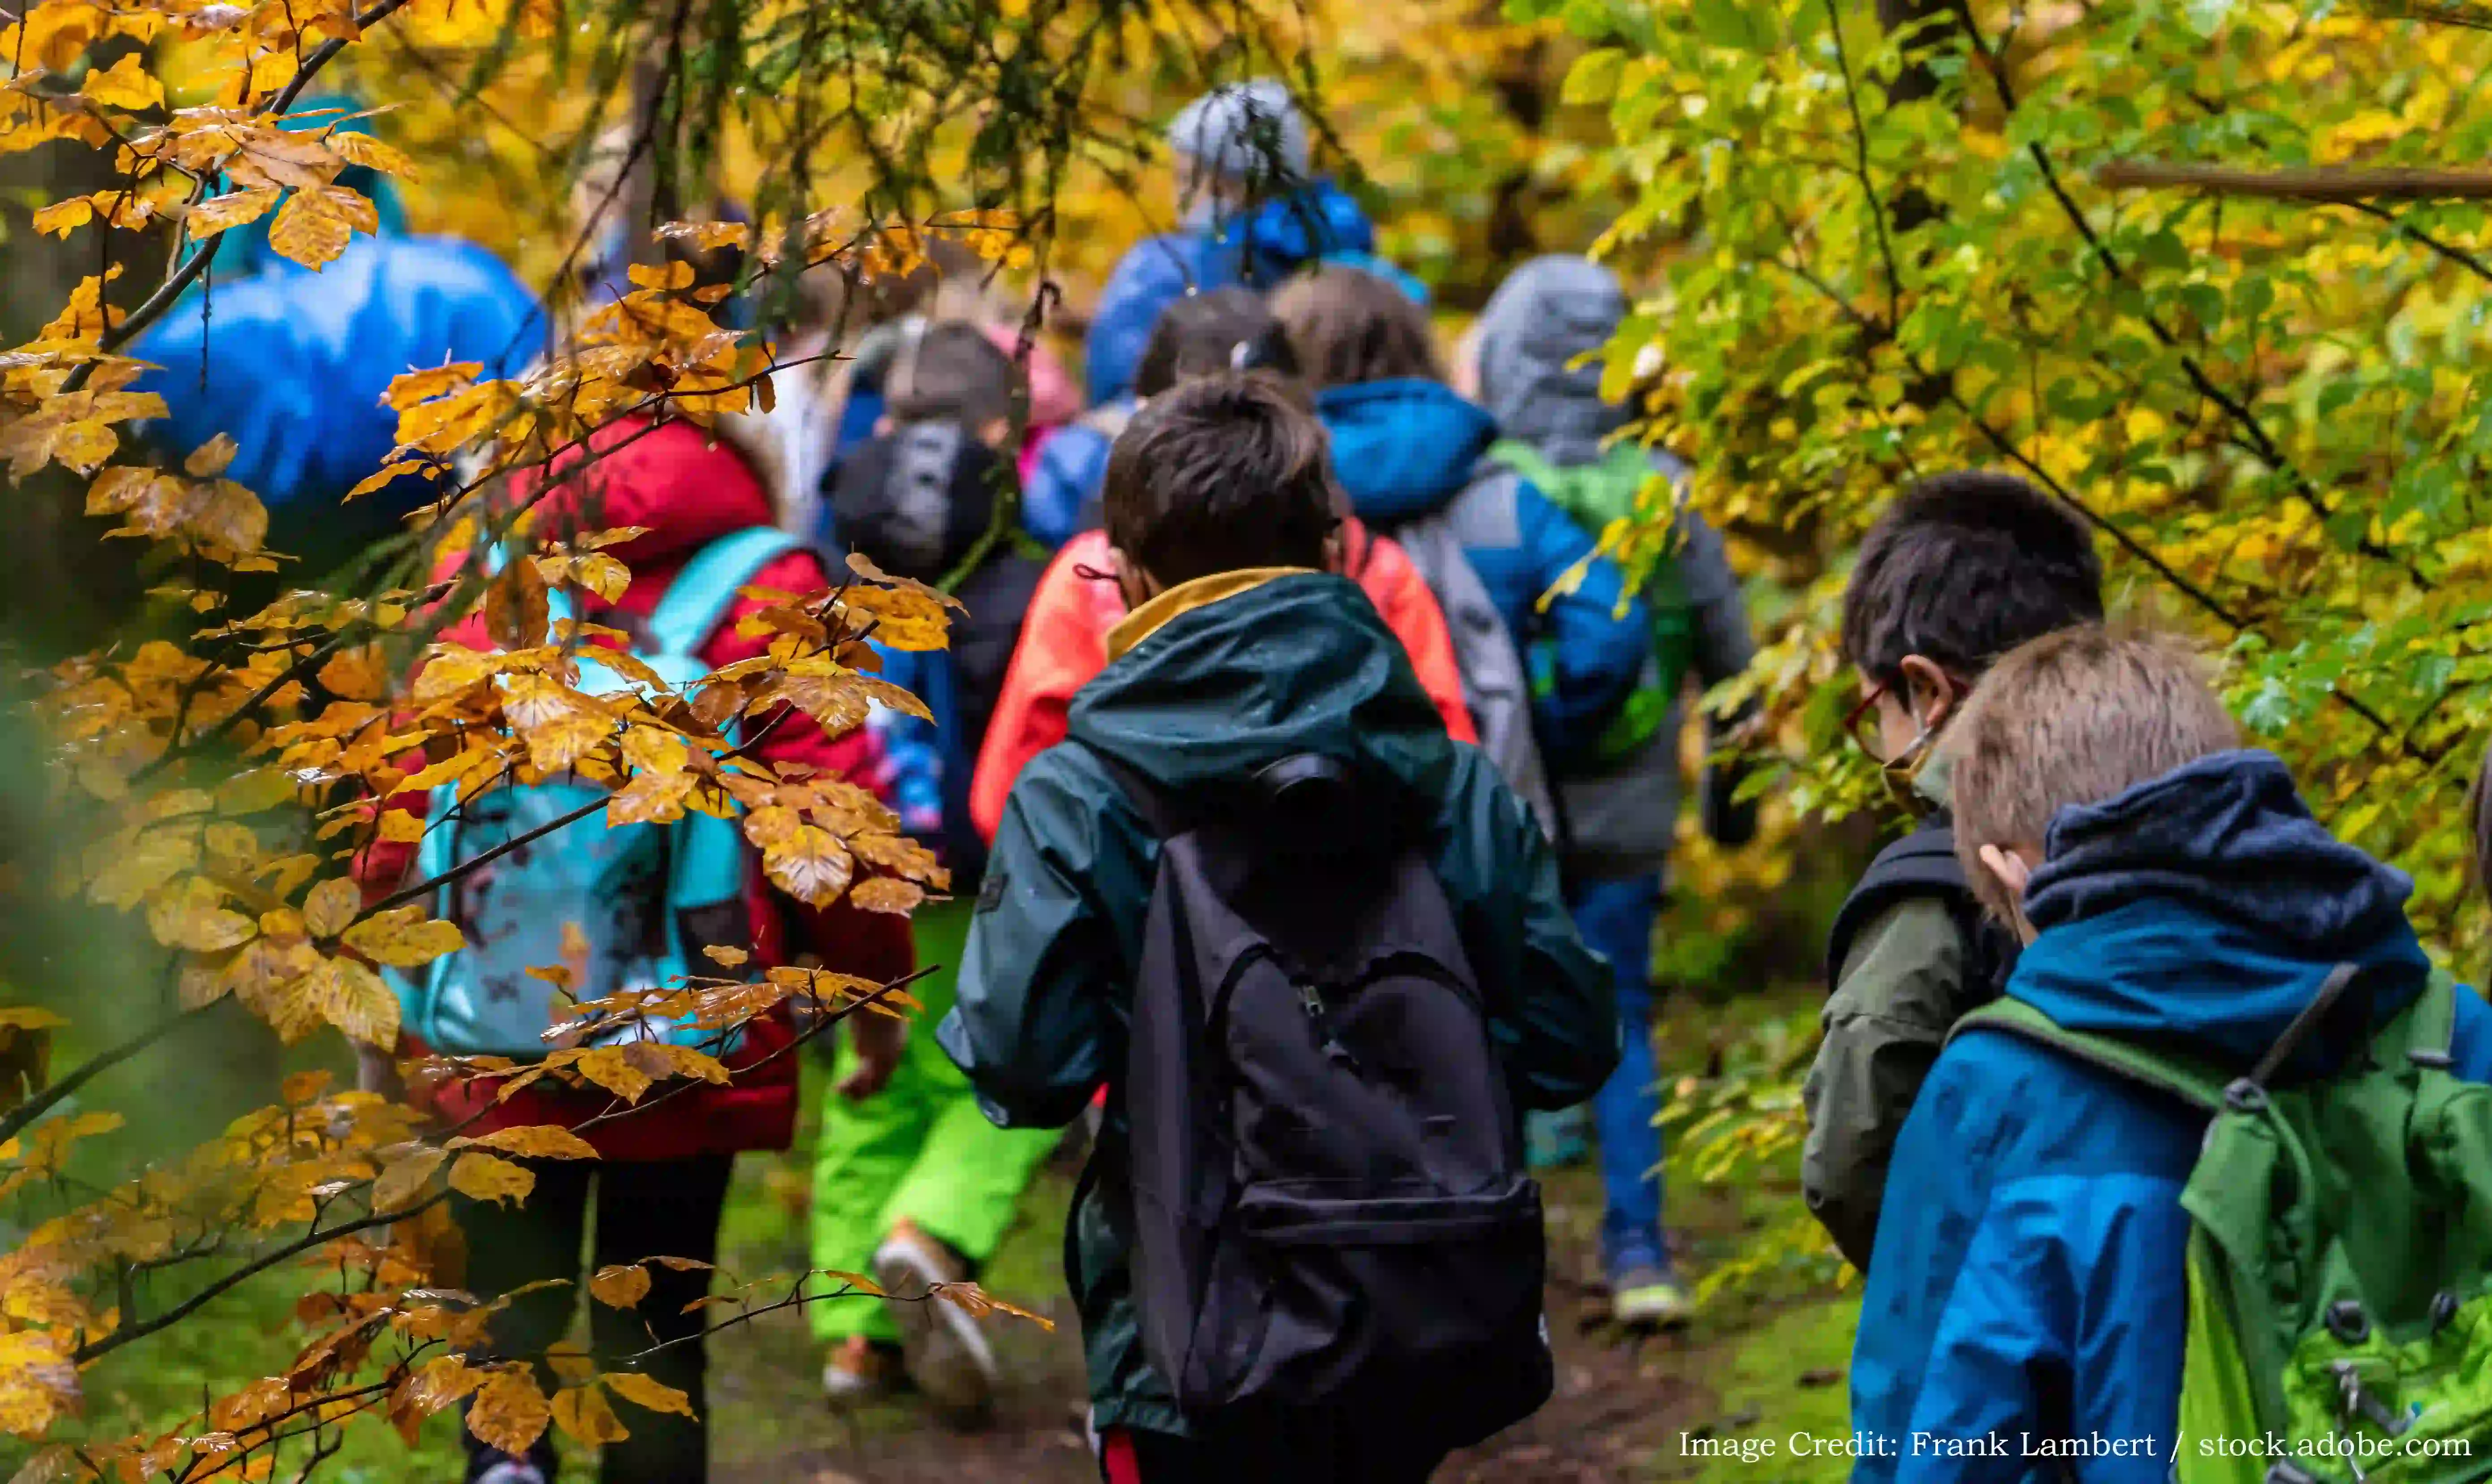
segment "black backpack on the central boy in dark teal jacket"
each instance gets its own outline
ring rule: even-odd
[[[1428,817],[1328,757],[1171,807],[1134,984],[1134,1297],[1191,1417],[1343,1409],[1448,1449],[1533,1414],[1540,1188]]]

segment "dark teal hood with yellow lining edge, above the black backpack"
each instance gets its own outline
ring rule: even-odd
[[[1443,789],[1445,722],[1348,578],[1291,573],[1179,613],[1074,697],[1067,735],[1151,782],[1221,787],[1298,752]]]

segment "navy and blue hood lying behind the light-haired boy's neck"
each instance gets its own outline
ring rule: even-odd
[[[2061,809],[2026,886],[2041,936],[2009,993],[2071,1031],[2153,1036],[2245,1068],[2340,964],[2352,1016],[2288,1071],[2342,1061],[2422,993],[2412,881],[2310,817],[2270,752],[2220,752],[2101,804]]]

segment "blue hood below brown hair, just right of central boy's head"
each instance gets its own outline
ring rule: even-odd
[[[1435,381],[1366,381],[1316,393],[1333,476],[1363,518],[1398,523],[1470,483],[1498,423]]]

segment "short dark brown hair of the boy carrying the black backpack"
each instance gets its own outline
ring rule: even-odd
[[[1106,456],[1106,540],[1166,585],[1321,568],[1341,523],[1323,423],[1261,371],[1179,381]]]

